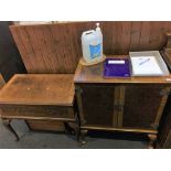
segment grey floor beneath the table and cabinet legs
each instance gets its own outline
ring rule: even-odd
[[[98,136],[87,136],[87,143],[79,147],[74,136],[57,132],[29,131],[24,121],[13,120],[13,128],[20,136],[20,141],[15,141],[0,120],[0,149],[145,149],[146,140],[125,140],[115,138],[104,138]],[[136,135],[135,135],[136,136]]]

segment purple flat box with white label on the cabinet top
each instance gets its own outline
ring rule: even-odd
[[[107,57],[104,65],[104,77],[124,77],[129,78],[130,62],[129,58]]]

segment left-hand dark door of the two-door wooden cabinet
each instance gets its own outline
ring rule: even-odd
[[[82,87],[82,108],[86,125],[116,127],[116,89],[111,86]]]

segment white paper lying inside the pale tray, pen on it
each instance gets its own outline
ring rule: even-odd
[[[154,56],[130,57],[135,75],[162,75]]]

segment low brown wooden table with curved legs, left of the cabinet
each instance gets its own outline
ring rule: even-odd
[[[66,130],[74,126],[78,139],[73,77],[73,74],[17,74],[4,85],[0,90],[1,118],[17,140],[12,119],[58,120]]]

